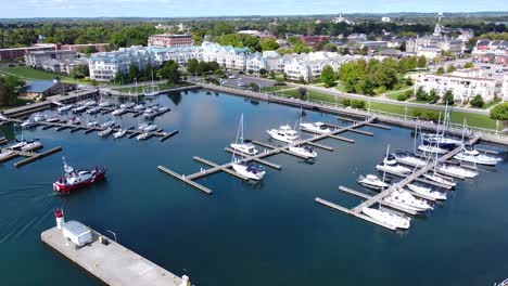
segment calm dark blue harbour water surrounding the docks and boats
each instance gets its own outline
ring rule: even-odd
[[[224,147],[234,140],[241,113],[245,136],[267,141],[266,129],[293,123],[299,110],[204,91],[155,101],[172,107],[155,122],[180,131],[163,143],[82,131],[25,132],[63,152],[20,169],[15,160],[0,165],[1,285],[98,284],[40,242],[40,233],[54,225],[56,207],[64,207],[67,220],[116,232],[119,243],[195,285],[493,285],[508,276],[506,161],[459,182],[427,218],[393,233],[314,198],[355,206],[360,200],[338,186],[360,190],[357,177],[374,172],[388,144],[412,148],[410,130],[361,128],[374,136],[343,134],[355,144],[321,141],[335,150],[318,150],[315,164],[269,157],[282,170],[267,168],[257,184],[217,173],[199,181],[214,191],[207,196],[156,166],[191,173],[205,167],[192,156],[227,162],[231,156]],[[123,118],[124,126],[141,120]],[[346,125],[314,112],[304,120]],[[62,174],[61,156],[75,167],[107,166],[107,181],[55,195],[51,183]]]

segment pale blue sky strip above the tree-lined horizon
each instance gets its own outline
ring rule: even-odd
[[[508,11],[507,0],[0,0],[0,17],[188,17]]]

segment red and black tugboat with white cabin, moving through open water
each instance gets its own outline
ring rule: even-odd
[[[65,177],[59,178],[59,180],[53,183],[53,190],[61,194],[67,194],[76,188],[104,180],[106,172],[104,168],[94,167],[92,170],[75,170],[67,165],[65,158],[62,159],[64,161]]]

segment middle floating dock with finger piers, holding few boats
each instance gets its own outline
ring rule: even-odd
[[[336,127],[335,130],[333,130],[330,133],[315,134],[312,138],[299,140],[299,141],[294,142],[294,144],[297,144],[297,145],[312,145],[312,146],[322,148],[322,150],[326,150],[326,151],[333,151],[332,147],[323,145],[323,144],[319,144],[319,143],[317,143],[317,141],[322,140],[322,139],[327,139],[327,138],[332,138],[332,139],[339,139],[339,140],[342,140],[342,141],[346,141],[348,143],[354,143],[354,141],[352,142],[352,140],[350,140],[350,139],[343,140],[343,138],[338,136],[338,134],[341,134],[341,133],[344,133],[344,132],[347,132],[347,131],[359,131],[359,130],[357,130],[357,128],[369,125],[373,120],[376,120],[376,117],[368,118],[365,121],[355,122],[355,123],[353,123],[351,126],[347,126],[347,127]],[[364,132],[364,131],[360,131],[358,133],[365,134],[365,135],[373,135],[370,132]],[[246,155],[246,154],[241,154],[241,153],[238,153],[238,152],[234,153],[239,157],[241,157],[240,159],[238,159],[239,164],[247,162],[247,161],[257,161],[259,164],[266,165],[266,166],[275,168],[275,169],[281,169],[281,166],[269,162],[269,161],[265,160],[264,158],[276,155],[276,154],[280,154],[280,153],[285,153],[285,154],[289,154],[289,155],[292,155],[292,156],[295,156],[295,157],[299,157],[299,158],[305,158],[300,154],[291,152],[289,150],[290,144],[287,144],[287,145],[283,145],[283,146],[274,146],[271,144],[264,143],[264,142],[258,142],[258,141],[253,141],[252,143],[254,143],[256,145],[259,145],[259,146],[263,146],[266,150],[264,152],[259,152],[258,154],[252,155],[252,156]],[[233,153],[233,151],[231,148],[229,148],[229,147],[226,147],[226,151],[230,152],[230,153]],[[209,190],[209,188],[194,182],[194,180],[201,179],[203,177],[206,177],[206,176],[219,172],[219,171],[224,171],[224,172],[227,172],[227,173],[229,173],[231,176],[238,177],[238,178],[240,178],[242,180],[246,180],[246,178],[244,178],[243,176],[240,176],[239,173],[237,173],[236,171],[233,171],[231,169],[232,162],[218,165],[218,164],[212,162],[209,160],[203,159],[201,157],[194,157],[194,159],[202,162],[202,164],[205,164],[205,165],[209,166],[211,168],[208,168],[208,169],[201,168],[201,170],[199,172],[191,173],[191,174],[179,174],[179,173],[177,173],[177,172],[175,172],[173,170],[169,170],[168,168],[163,167],[163,166],[158,166],[157,168],[158,168],[158,170],[161,170],[161,171],[163,171],[163,172],[165,172],[165,173],[167,173],[167,174],[169,174],[169,176],[172,176],[172,177],[174,177],[174,178],[176,178],[176,179],[178,179],[178,180],[180,180],[182,182],[186,182],[189,185],[194,186],[195,188],[198,188],[200,191],[203,191],[206,194],[212,194],[212,190]]]

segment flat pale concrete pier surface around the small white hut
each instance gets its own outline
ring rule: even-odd
[[[107,239],[109,245],[104,245],[99,242],[100,234],[92,233],[93,242],[80,248],[65,239],[56,226],[45,231],[40,237],[45,244],[107,285],[181,285],[182,280],[177,275],[111,239]]]

